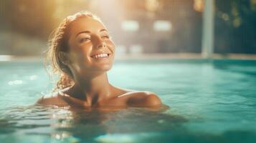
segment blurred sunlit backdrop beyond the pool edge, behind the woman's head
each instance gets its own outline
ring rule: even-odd
[[[0,0],[0,55],[43,56],[66,16],[88,10],[117,55],[256,54],[256,0]]]

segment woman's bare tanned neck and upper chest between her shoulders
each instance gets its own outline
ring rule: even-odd
[[[70,96],[85,100],[89,106],[110,97],[110,87],[106,72],[90,77],[75,76],[75,85]]]

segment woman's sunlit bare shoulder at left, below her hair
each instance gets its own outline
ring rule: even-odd
[[[59,92],[52,92],[51,94],[45,94],[40,97],[36,104],[43,105],[67,105],[67,103],[60,97]]]

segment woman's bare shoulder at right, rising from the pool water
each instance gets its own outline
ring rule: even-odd
[[[126,97],[126,104],[132,107],[158,107],[161,106],[161,99],[154,92],[134,91],[127,92],[122,96]]]

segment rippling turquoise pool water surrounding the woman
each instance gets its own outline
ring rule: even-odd
[[[0,75],[0,142],[256,142],[256,61],[115,61],[110,83],[156,92],[161,111],[33,106],[52,87],[41,62]]]

